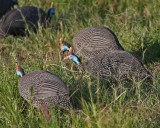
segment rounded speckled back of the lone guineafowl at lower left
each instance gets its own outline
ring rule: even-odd
[[[30,102],[30,98],[32,97],[31,99],[33,99],[33,105],[35,107],[39,107],[39,102],[41,101],[48,104],[48,100],[55,105],[59,104],[58,99],[67,100],[69,95],[67,86],[59,77],[43,70],[33,71],[23,76],[19,80],[18,88],[20,94],[27,102]],[[64,104],[67,104],[67,102]]]

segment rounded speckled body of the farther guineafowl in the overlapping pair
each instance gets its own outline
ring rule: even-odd
[[[124,50],[116,35],[106,27],[94,26],[80,30],[73,38],[74,53],[90,59],[111,50]]]

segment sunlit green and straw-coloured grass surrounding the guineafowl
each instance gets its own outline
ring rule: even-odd
[[[47,11],[51,0],[20,1]],[[160,126],[160,0],[61,0],[49,28],[30,37],[0,41],[0,127],[116,127]],[[62,23],[61,31],[58,29]],[[106,26],[115,32],[126,51],[136,54],[153,74],[154,83],[133,82],[105,88],[71,61],[63,60],[59,38],[72,44],[74,34],[89,26]],[[48,70],[65,81],[79,106],[51,109],[52,120],[24,101],[18,91],[15,62],[26,73]]]

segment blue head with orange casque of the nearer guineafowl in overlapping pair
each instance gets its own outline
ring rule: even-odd
[[[78,65],[81,64],[80,58],[78,58],[75,54],[72,53],[72,47],[70,47],[69,49],[69,55],[67,55],[64,59],[70,59]]]

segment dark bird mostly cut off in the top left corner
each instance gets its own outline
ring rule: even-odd
[[[14,5],[18,4],[17,0],[0,0],[0,18],[11,8],[13,8]]]

